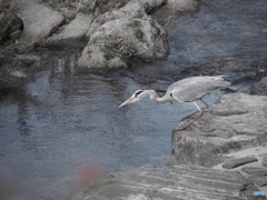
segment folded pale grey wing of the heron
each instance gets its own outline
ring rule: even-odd
[[[228,86],[230,86],[230,82],[225,81],[221,76],[192,77],[172,83],[167,91],[177,101],[186,102],[200,99]]]

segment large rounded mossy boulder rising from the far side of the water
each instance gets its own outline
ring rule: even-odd
[[[150,17],[111,20],[91,36],[78,67],[126,68],[131,56],[147,61],[162,59],[168,53],[165,34],[165,30]]]

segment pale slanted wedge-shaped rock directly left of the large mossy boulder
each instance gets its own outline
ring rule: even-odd
[[[78,13],[75,20],[68,23],[61,32],[49,37],[46,44],[68,44],[83,40],[92,20],[92,16]]]

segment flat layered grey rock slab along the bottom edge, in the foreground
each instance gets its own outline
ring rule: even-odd
[[[265,199],[239,197],[239,192],[258,191],[245,177],[234,171],[214,170],[197,166],[169,168],[142,167],[117,172],[89,183],[75,200],[188,200],[188,199]]]

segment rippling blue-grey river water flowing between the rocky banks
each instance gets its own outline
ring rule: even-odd
[[[257,2],[255,9],[249,4],[250,11],[263,8],[264,1]],[[233,36],[237,32],[238,20],[247,19],[234,13],[238,12],[228,16],[206,4],[195,14],[176,17],[168,27],[169,57],[135,63],[129,70],[79,72],[79,50],[37,50],[42,62],[34,80],[0,93],[0,197],[68,200],[99,176],[144,164],[165,167],[171,151],[171,131],[182,117],[196,110],[195,106],[157,104],[149,98],[121,109],[118,106],[138,89],[156,89],[162,96],[174,81],[200,74],[226,73],[234,81],[238,77],[235,87],[248,92],[257,72],[231,72],[229,63],[235,67],[247,60],[260,61],[266,57],[260,50],[266,49],[266,41],[256,33],[251,33],[251,40],[245,36],[228,41],[229,31]],[[157,18],[165,23],[166,16],[159,13]],[[264,26],[264,19],[256,22]],[[244,42],[249,48],[240,49]],[[251,52],[254,46],[259,48],[257,53]],[[216,92],[206,101],[212,104],[221,94]]]

